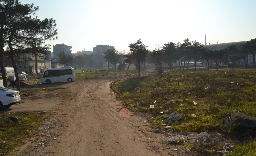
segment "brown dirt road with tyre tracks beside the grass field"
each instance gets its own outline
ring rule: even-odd
[[[67,89],[24,97],[25,103],[6,109],[47,111],[50,116],[35,137],[10,155],[197,155],[168,144],[175,138],[159,134],[146,118],[127,111],[110,89],[115,80],[42,84]]]

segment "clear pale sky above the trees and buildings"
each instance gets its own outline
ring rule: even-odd
[[[153,50],[155,44],[188,38],[207,44],[256,38],[255,0],[20,0],[39,6],[39,19],[56,20],[58,39],[46,41],[72,46],[72,53],[93,51],[109,44],[119,51],[138,39]],[[50,50],[52,52],[52,49]]]

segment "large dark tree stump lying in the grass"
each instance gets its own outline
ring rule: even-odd
[[[225,116],[223,126],[225,130],[234,128],[249,128],[256,129],[256,118],[243,114],[241,111],[237,111],[235,113],[230,113]]]

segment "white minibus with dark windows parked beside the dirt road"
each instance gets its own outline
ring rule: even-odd
[[[76,79],[75,70],[72,67],[62,67],[54,69],[46,69],[42,75],[42,83],[72,82]]]

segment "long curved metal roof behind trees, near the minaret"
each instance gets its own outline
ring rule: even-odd
[[[222,50],[222,49],[225,49],[225,48],[235,44],[238,49],[242,49],[243,44],[245,44],[246,42],[247,41],[209,44],[209,45],[205,45],[204,48],[208,48],[209,50]]]

